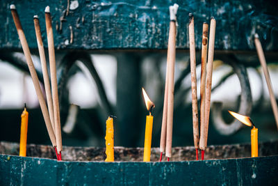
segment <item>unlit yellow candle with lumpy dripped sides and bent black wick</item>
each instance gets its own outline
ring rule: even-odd
[[[110,116],[106,120],[106,162],[114,162],[114,127],[113,118]]]

